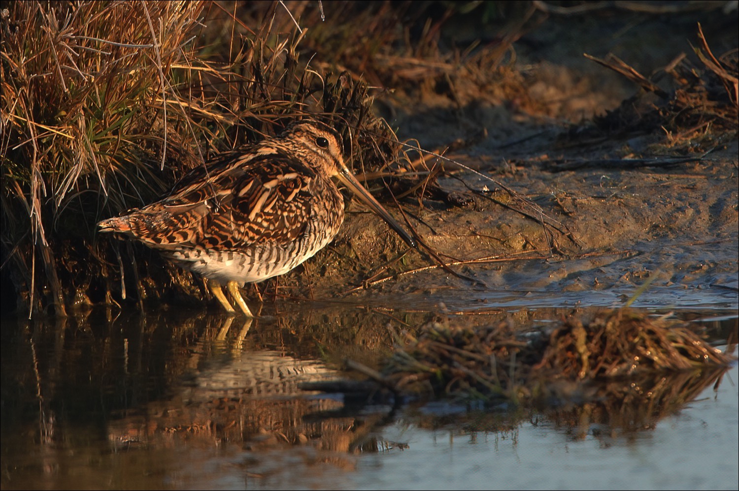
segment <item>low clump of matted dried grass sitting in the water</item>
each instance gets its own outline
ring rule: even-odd
[[[618,309],[571,315],[546,333],[520,332],[509,321],[433,320],[405,334],[382,380],[401,394],[535,402],[585,394],[593,382],[622,388],[641,377],[647,386],[650,377],[715,371],[732,360],[685,324]]]

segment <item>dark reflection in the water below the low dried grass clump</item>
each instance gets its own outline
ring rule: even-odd
[[[428,405],[419,402],[403,414],[421,428],[461,428],[471,438],[477,432],[485,432],[516,439],[521,425],[543,424],[554,425],[571,439],[593,436],[609,444],[620,436],[628,438],[653,430],[661,419],[681,411],[687,402],[718,384],[726,369],[642,373],[628,380],[577,386],[548,380],[548,393],[541,394],[534,404],[501,404],[463,412],[457,408],[445,414],[443,410],[429,410]]]

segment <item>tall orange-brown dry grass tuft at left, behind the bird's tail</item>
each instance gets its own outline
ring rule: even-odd
[[[186,119],[174,67],[192,56],[202,4],[7,4],[2,256],[22,303],[40,309],[47,291],[64,314],[59,263],[92,236],[85,218],[165,188],[160,168],[181,149],[173,130]]]

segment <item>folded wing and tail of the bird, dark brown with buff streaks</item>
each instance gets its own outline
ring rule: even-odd
[[[183,179],[168,198],[101,222],[101,230],[160,250],[286,243],[303,233],[321,185],[315,171],[279,148],[228,152]]]

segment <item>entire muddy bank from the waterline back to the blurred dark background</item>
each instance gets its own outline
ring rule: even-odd
[[[499,72],[489,86],[475,83],[471,70],[425,91],[381,95],[375,109],[401,138],[446,157],[426,161],[429,174],[443,172],[403,207],[429,248],[466,278],[428,269],[438,261],[423,250],[398,259],[408,248],[351,205],[334,244],[287,284],[310,284],[313,298],[351,291],[467,306],[506,292],[583,292],[590,297],[582,301],[599,303],[594,292],[628,298],[647,281],[647,292],[670,292],[658,294],[666,303],[673,293],[695,292],[692,303],[711,303],[712,292],[735,295],[735,103],[731,109],[726,99],[729,112],[716,117],[706,108],[718,106],[690,98],[710,82],[680,86],[664,72],[657,79],[674,92],[661,100],[582,56],[613,52],[636,70],[659,72],[695,55],[698,20],[716,52],[738,44],[722,21],[697,14],[624,14],[600,23],[551,16],[515,44],[519,71]],[[520,83],[518,99],[503,89],[512,80]],[[717,90],[726,95],[720,83]],[[408,188],[402,180],[386,186],[397,195]]]

